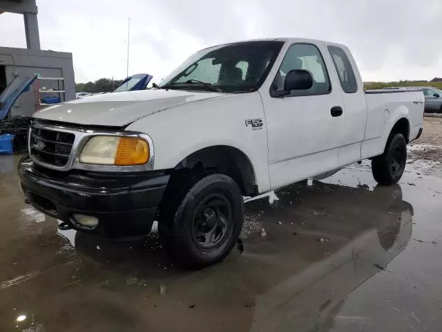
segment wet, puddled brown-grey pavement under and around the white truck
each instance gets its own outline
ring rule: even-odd
[[[59,231],[17,160],[0,156],[0,331],[441,331],[440,177],[376,187],[352,165],[248,201],[244,254],[189,272],[156,232]]]

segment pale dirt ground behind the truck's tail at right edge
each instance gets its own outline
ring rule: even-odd
[[[442,118],[424,118],[422,136],[409,149],[416,159],[442,161]]]

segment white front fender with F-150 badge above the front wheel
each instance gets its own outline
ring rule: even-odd
[[[246,120],[261,119],[253,130]],[[249,158],[259,192],[270,188],[267,129],[258,93],[183,104],[133,122],[128,130],[148,134],[155,149],[154,169],[171,169],[187,156],[206,147],[236,148]]]

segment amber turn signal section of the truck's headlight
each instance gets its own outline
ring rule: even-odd
[[[114,165],[142,165],[149,160],[149,154],[149,147],[145,140],[141,138],[122,137],[118,142]]]

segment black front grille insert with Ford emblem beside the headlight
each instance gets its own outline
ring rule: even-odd
[[[30,155],[41,163],[63,167],[68,163],[74,140],[73,133],[32,127]]]

